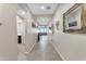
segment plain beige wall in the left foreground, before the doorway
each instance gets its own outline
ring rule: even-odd
[[[16,4],[0,3],[0,60],[17,60]]]

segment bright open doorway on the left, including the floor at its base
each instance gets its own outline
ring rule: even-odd
[[[25,14],[24,11],[19,8],[17,16],[16,16],[16,25],[17,25],[17,60],[26,60],[25,52]]]

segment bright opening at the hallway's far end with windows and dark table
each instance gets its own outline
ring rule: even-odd
[[[49,28],[49,26],[47,25],[40,25],[38,26],[38,42],[41,42],[44,39],[47,40],[48,39],[48,35],[52,34],[51,28]]]

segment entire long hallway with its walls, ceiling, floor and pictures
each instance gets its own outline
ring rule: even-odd
[[[86,3],[0,8],[0,61],[86,61]]]

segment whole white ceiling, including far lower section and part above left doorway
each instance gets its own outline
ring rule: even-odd
[[[49,22],[51,22],[51,17],[53,16],[54,11],[58,9],[58,5],[59,3],[19,3],[17,15],[24,17],[24,11],[27,10],[34,14],[33,17],[38,25],[48,25]],[[50,7],[50,9],[41,9],[41,7]]]

